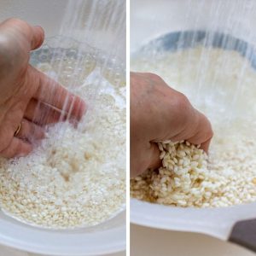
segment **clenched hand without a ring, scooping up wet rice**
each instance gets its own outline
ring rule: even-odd
[[[153,73],[131,73],[131,177],[160,167],[156,142],[186,140],[207,152],[212,139],[207,117],[188,98]]]

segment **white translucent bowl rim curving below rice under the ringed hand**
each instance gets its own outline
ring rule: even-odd
[[[26,252],[61,256],[102,255],[125,250],[125,211],[103,224],[77,230],[46,230],[0,211],[0,243]]]

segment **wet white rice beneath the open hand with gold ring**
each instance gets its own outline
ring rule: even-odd
[[[77,128],[50,126],[32,154],[0,160],[1,209],[22,222],[84,227],[125,207],[125,86],[113,86],[96,67],[75,92],[89,105]]]

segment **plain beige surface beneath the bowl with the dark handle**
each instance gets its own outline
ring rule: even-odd
[[[255,256],[211,236],[156,230],[131,224],[131,256]]]

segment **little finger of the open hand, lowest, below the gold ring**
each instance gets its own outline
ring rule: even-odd
[[[20,138],[14,137],[9,143],[9,147],[3,149],[0,152],[0,155],[5,158],[13,158],[15,156],[25,156],[32,151],[32,145],[30,143],[26,143]]]

